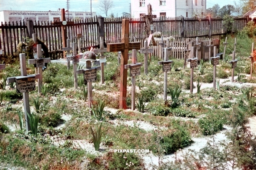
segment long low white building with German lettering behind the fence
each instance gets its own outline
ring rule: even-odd
[[[90,12],[65,12],[65,17],[67,20],[67,16],[69,19],[85,19],[91,16]],[[96,16],[96,12],[92,12],[92,16]],[[16,22],[19,20],[23,20],[26,18],[30,18],[33,21],[53,21],[53,20],[60,20],[61,19],[61,12],[55,11],[0,11],[0,23],[1,22]]]

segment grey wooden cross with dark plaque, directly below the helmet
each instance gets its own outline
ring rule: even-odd
[[[87,92],[88,92],[88,106],[91,108],[91,104],[93,104],[93,88],[92,82],[97,79],[97,71],[100,70],[100,66],[91,68],[91,61],[86,61],[86,69],[76,70],[76,74],[84,74],[84,84],[87,84]],[[92,115],[92,112],[90,112]]]

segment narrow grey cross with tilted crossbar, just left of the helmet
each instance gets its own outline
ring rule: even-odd
[[[78,83],[77,83],[77,73],[76,73],[76,70],[77,70],[77,63],[79,63],[79,59],[81,59],[81,58],[83,57],[83,54],[77,55],[77,52],[76,52],[76,43],[72,43],[72,46],[73,46],[73,56],[67,57],[67,60],[68,60],[68,61],[71,61],[71,60],[72,60],[72,63],[73,63],[73,72],[74,72],[74,86],[75,86],[75,89],[77,89],[77,87],[78,87]]]

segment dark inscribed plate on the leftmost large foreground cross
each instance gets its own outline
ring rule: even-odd
[[[35,90],[35,76],[19,76],[16,77],[16,91],[17,93],[31,92]]]

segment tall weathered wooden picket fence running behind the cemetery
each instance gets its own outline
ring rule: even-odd
[[[119,18],[102,18],[104,30],[100,30],[100,17],[92,17],[86,20],[74,20],[73,25],[67,25],[67,37],[70,42],[77,43],[74,38],[78,29],[84,37],[81,39],[81,49],[87,50],[90,46],[99,47],[100,32],[104,32],[104,41],[107,43],[118,43],[121,40],[122,19]],[[238,31],[246,26],[248,18],[235,17],[233,31]],[[180,17],[159,17],[152,20],[154,31],[162,32],[163,37],[215,37],[227,33],[221,17],[215,18],[184,18]],[[143,42],[146,37],[146,22],[144,18],[130,18],[130,41],[134,41],[134,37]],[[49,21],[35,21],[32,24],[33,33],[43,40],[48,46],[51,58],[55,58],[55,54],[62,54],[62,35],[61,25],[52,25]],[[25,38],[29,37],[28,20],[16,21],[12,23],[1,23],[0,25],[0,49],[3,50],[3,56],[15,55],[17,45],[25,42]],[[141,43],[143,47],[143,43]],[[0,55],[1,56],[1,55]],[[58,55],[61,56],[61,55]]]

